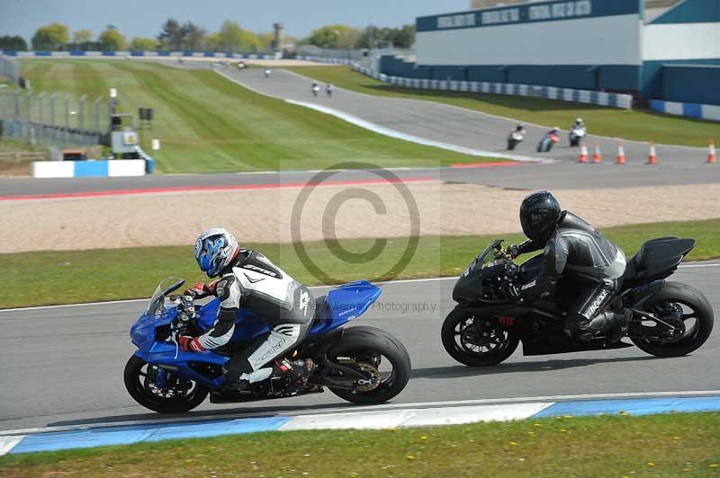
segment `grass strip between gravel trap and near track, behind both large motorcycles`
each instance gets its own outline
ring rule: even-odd
[[[628,257],[644,241],[654,237],[693,237],[698,240],[698,246],[688,259],[705,260],[720,257],[718,230],[720,219],[619,226],[603,232],[621,245]],[[508,243],[522,240],[517,234],[504,237]],[[421,236],[417,251],[399,274],[395,274],[398,270],[392,267],[405,251],[407,238],[391,239],[377,259],[354,264],[336,258],[323,242],[304,243],[304,246],[306,256],[321,270],[332,273],[336,281],[388,279],[386,271],[398,279],[415,279],[459,274],[493,238],[490,235]],[[348,251],[365,252],[374,242],[375,239],[341,241],[334,244],[332,250],[337,252],[342,246]],[[264,252],[295,279],[308,285],[319,283],[303,265],[303,257],[295,252],[293,244],[245,245]],[[0,281],[4,290],[22,291],[2,295],[0,308],[149,297],[157,283],[167,276],[181,277],[188,282],[203,279],[193,259],[192,244],[0,254]]]

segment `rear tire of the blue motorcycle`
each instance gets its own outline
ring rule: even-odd
[[[330,392],[347,402],[361,405],[374,405],[391,400],[408,385],[412,365],[410,354],[395,336],[375,327],[348,328],[342,338],[328,351],[328,359],[338,361],[341,358],[358,359],[374,355],[385,360],[392,367],[384,372],[380,385],[369,391],[348,390],[329,387]]]

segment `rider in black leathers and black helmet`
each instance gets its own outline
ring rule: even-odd
[[[545,249],[545,269],[521,287],[525,302],[553,297],[561,279],[580,285],[568,311],[565,332],[578,341],[606,333],[619,341],[632,317],[629,309],[606,310],[616,297],[626,269],[626,258],[617,245],[571,212],[563,211],[554,196],[539,191],[523,199],[520,223],[528,240],[510,245],[512,257]]]

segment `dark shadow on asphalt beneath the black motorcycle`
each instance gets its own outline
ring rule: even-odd
[[[635,362],[642,360],[662,360],[659,357],[617,357],[614,359],[571,359],[543,360],[537,362],[514,362],[490,367],[467,367],[454,365],[450,367],[415,368],[410,378],[462,378],[464,376],[486,376],[496,374],[512,374],[517,372],[544,372],[563,370],[565,368],[587,367],[589,365]]]

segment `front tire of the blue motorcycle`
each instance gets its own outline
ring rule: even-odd
[[[142,367],[145,367],[148,363],[140,359],[137,355],[133,355],[125,365],[125,388],[128,390],[130,396],[135,399],[135,402],[140,405],[158,413],[182,413],[193,410],[196,406],[202,403],[210,393],[210,389],[205,385],[192,382],[192,388],[190,392],[182,397],[167,399],[165,397],[153,394],[144,386],[144,374]]]

